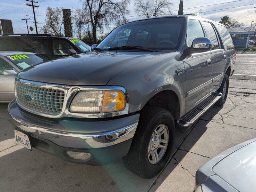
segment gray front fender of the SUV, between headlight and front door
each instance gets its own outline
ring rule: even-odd
[[[158,92],[175,92],[180,103],[180,116],[185,114],[185,73],[177,75],[176,70],[184,68],[178,61],[179,52],[163,53],[150,60],[133,65],[112,78],[107,85],[119,85],[129,95],[129,113],[140,111]],[[170,101],[171,102],[171,101]]]

